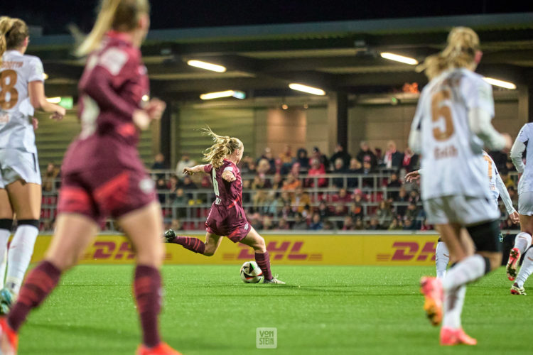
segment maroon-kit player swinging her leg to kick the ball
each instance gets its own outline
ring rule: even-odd
[[[212,256],[220,246],[222,236],[227,236],[233,243],[240,242],[254,249],[255,261],[263,271],[264,283],[284,283],[272,276],[264,239],[248,223],[242,208],[242,180],[237,164],[242,159],[244,145],[238,138],[218,136],[210,129],[205,129],[205,133],[214,142],[204,153],[204,160],[209,163],[183,169],[185,175],[206,173],[212,177],[215,202],[205,222],[205,243],[190,236],[176,236],[172,229],[165,233],[166,242],[181,244],[195,253]]]

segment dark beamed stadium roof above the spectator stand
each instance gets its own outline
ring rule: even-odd
[[[453,26],[469,26],[480,35],[484,57],[478,72],[518,85],[532,80],[533,13],[154,30],[143,53],[152,92],[179,100],[226,89],[248,97],[289,96],[294,94],[289,82],[326,92],[391,92],[426,78],[413,65],[379,53],[421,62],[443,48]],[[75,94],[83,61],[72,56],[74,43],[70,35],[32,38],[28,53],[44,62],[48,95]],[[190,59],[227,71],[190,67]]]

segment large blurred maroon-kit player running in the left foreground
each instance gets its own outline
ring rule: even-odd
[[[149,28],[146,0],[103,0],[95,27],[78,48],[90,53],[80,80],[82,131],[63,162],[55,236],[45,260],[28,274],[11,312],[0,320],[2,354],[14,354],[17,333],[63,271],[75,265],[107,215],[118,219],[136,251],[134,296],[143,344],[137,354],[179,354],[161,342],[161,207],[139,159],[139,129],[160,119],[163,102],[141,107],[149,81],[139,50]]]

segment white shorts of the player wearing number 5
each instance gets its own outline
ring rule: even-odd
[[[458,223],[470,226],[500,218],[500,210],[483,197],[443,196],[424,201],[430,224]]]

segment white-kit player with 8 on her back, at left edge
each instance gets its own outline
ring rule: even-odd
[[[24,55],[28,33],[24,21],[0,17],[0,314],[21,287],[38,234],[41,173],[33,111],[53,119],[65,115],[63,107],[46,101],[41,60]],[[7,251],[14,214],[17,228]]]

